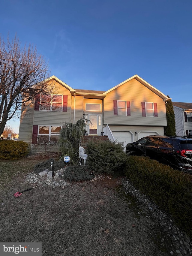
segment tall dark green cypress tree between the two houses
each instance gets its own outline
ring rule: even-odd
[[[167,95],[168,98],[169,95]],[[172,101],[167,101],[166,103],[166,114],[167,114],[167,126],[164,126],[165,135],[176,136],[176,128],[175,128],[175,113],[173,110]]]

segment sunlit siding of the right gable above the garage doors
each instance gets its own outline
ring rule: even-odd
[[[113,101],[130,101],[131,116],[113,114]],[[142,116],[141,102],[156,102],[158,117]],[[104,124],[119,125],[167,125],[165,102],[136,79],[126,82],[104,98]]]

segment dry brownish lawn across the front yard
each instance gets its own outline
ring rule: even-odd
[[[169,255],[161,226],[128,207],[119,178],[38,186],[13,197],[31,187],[25,175],[44,158],[0,161],[0,242],[42,242],[46,256]]]

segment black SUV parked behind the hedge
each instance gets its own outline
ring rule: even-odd
[[[174,136],[146,136],[128,143],[126,153],[148,156],[174,169],[192,173],[192,139]]]

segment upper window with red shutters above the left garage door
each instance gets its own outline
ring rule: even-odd
[[[130,101],[113,101],[113,114],[115,116],[131,116]]]

